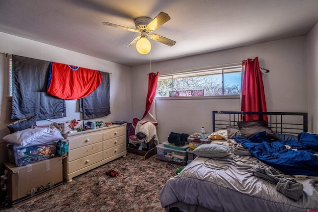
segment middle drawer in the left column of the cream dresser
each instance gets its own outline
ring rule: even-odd
[[[81,157],[85,157],[90,154],[97,153],[103,150],[103,142],[98,142],[94,144],[90,144],[87,146],[82,146],[76,149],[72,149],[68,153],[69,161],[79,159]]]

